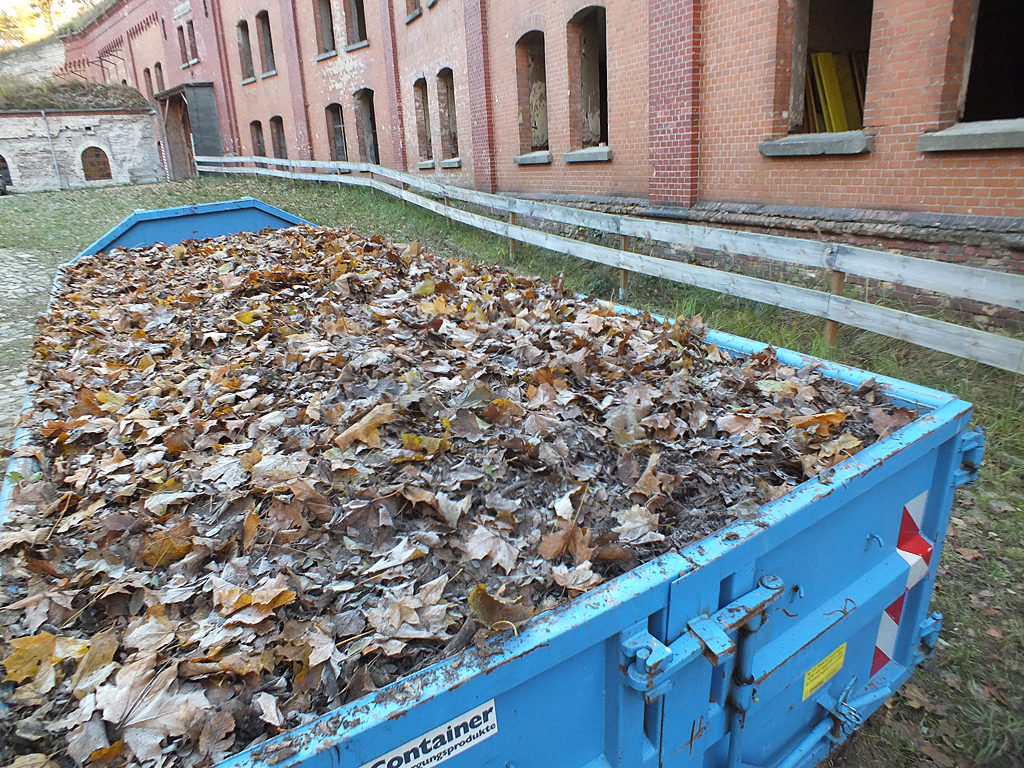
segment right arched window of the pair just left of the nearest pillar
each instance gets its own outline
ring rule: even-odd
[[[607,144],[608,54],[604,8],[592,5],[572,16],[567,43],[569,138],[577,146]]]

